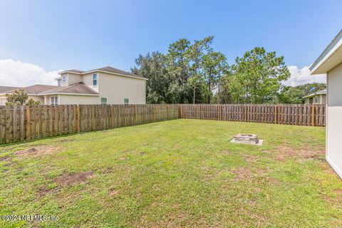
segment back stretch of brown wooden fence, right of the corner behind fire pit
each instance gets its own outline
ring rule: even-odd
[[[180,118],[325,126],[326,105],[180,105]]]

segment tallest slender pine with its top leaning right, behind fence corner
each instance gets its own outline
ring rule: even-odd
[[[214,36],[207,36],[201,41],[195,41],[187,50],[186,56],[190,59],[190,83],[193,88],[192,103],[196,103],[196,86],[202,83],[202,59],[205,53],[212,50],[210,45]]]

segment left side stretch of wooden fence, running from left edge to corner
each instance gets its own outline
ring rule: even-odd
[[[179,118],[180,105],[0,106],[0,144]]]

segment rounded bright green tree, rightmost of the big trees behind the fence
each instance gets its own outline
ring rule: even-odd
[[[235,103],[265,103],[274,98],[289,76],[283,56],[257,47],[236,58],[229,88]]]

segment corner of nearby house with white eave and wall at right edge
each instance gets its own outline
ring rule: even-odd
[[[342,30],[310,67],[326,73],[326,160],[342,178]]]

